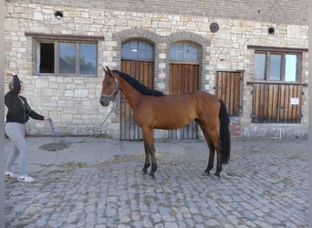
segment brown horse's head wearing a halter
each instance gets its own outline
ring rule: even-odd
[[[109,67],[103,67],[105,76],[102,81],[102,92],[99,98],[99,103],[102,106],[108,106],[110,100],[113,100],[118,93],[118,80]]]

